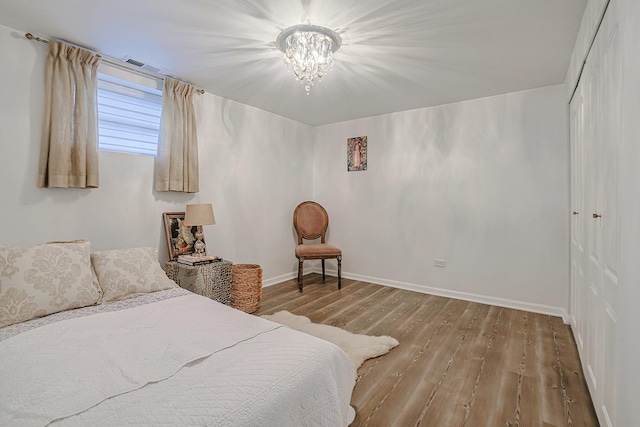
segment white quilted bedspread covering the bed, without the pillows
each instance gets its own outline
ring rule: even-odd
[[[332,344],[195,295],[46,325],[0,360],[3,426],[337,426],[353,388]]]

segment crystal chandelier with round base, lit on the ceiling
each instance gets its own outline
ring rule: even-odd
[[[316,80],[333,66],[333,53],[340,48],[342,38],[328,28],[300,24],[278,34],[276,47],[284,53],[284,64],[304,85],[307,95]]]

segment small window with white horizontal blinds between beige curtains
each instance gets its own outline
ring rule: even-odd
[[[98,148],[155,156],[162,90],[98,73]]]

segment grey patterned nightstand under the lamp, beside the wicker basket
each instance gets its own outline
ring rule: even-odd
[[[181,288],[205,297],[229,303],[231,293],[231,261],[218,261],[203,265],[186,265],[167,261],[164,271]]]

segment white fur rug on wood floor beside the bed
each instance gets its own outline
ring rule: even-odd
[[[387,354],[399,344],[397,339],[386,335],[375,337],[352,334],[335,326],[312,323],[309,318],[297,316],[287,310],[261,317],[334,343],[347,353],[356,371],[365,360]]]

